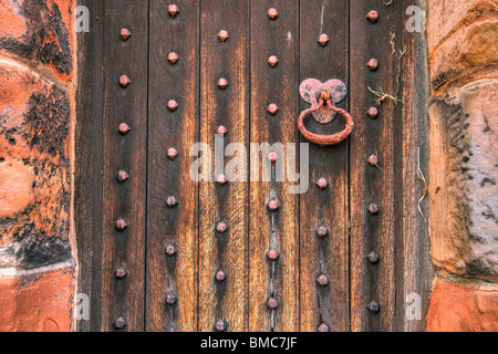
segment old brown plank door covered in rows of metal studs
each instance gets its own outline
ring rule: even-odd
[[[424,329],[405,315],[430,285],[409,0],[80,2],[79,330]],[[346,140],[301,135],[308,79],[344,82]]]

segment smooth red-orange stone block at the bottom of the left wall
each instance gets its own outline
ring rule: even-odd
[[[0,332],[68,332],[72,326],[72,268],[0,279]]]

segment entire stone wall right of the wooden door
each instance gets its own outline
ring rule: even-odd
[[[498,0],[429,0],[428,331],[498,331]]]

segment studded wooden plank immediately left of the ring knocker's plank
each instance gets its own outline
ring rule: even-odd
[[[279,17],[268,17],[270,8]],[[276,55],[278,65],[268,59]],[[251,152],[251,171],[258,168],[260,181],[250,186],[249,232],[249,331],[289,332],[299,330],[299,195],[293,185],[281,179],[289,159],[289,143],[299,143],[295,119],[299,115],[299,1],[260,0],[251,2],[251,143],[268,143],[261,154]],[[268,111],[271,104],[278,112]],[[295,144],[298,145],[298,144]],[[268,153],[276,150],[279,160],[268,164]],[[264,162],[264,163],[263,163]],[[297,168],[295,164],[292,166]],[[271,183],[263,178],[270,174]],[[278,173],[280,170],[281,173]],[[271,176],[272,175],[272,176]],[[289,176],[288,176],[289,177]],[[277,197],[279,209],[270,211],[267,201]],[[280,257],[270,260],[266,253],[276,249]],[[276,310],[267,308],[269,298],[279,300]]]

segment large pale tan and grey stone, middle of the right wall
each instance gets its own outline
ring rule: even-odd
[[[437,97],[430,112],[430,220],[434,263],[498,280],[498,80]]]

